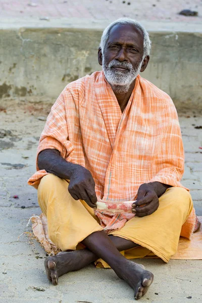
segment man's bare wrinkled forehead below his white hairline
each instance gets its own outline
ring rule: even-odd
[[[143,49],[143,32],[130,24],[116,24],[109,33],[107,44],[110,43],[134,44]]]

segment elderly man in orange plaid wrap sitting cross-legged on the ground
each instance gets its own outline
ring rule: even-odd
[[[29,184],[62,250],[45,261],[54,285],[100,259],[139,299],[154,276],[127,258],[155,254],[168,262],[180,234],[193,231],[191,196],[179,182],[184,153],[175,107],[139,76],[149,51],[138,22],[110,24],[98,50],[103,71],[68,84],[47,118]]]

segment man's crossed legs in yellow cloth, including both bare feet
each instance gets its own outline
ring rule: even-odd
[[[138,220],[133,218],[121,230],[108,236],[92,209],[84,201],[71,197],[64,179],[52,174],[43,177],[38,187],[38,202],[47,217],[49,237],[63,251],[45,261],[47,277],[54,285],[63,274],[101,258],[134,289],[136,299],[146,292],[154,276],[126,260],[119,250],[145,242],[146,247],[153,247],[155,242],[159,249],[153,247],[154,252],[168,262],[177,250],[180,230],[193,208],[190,194],[183,188],[172,187],[162,195],[159,209],[154,214]],[[154,230],[158,232],[154,233]],[[162,246],[164,239],[169,241]],[[80,242],[86,248],[75,250]]]

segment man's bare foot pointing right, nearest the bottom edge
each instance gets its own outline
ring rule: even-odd
[[[144,266],[138,265],[132,261],[126,260],[121,269],[119,265],[116,274],[124,279],[133,289],[135,300],[140,299],[148,290],[154,280],[154,275],[145,270]]]

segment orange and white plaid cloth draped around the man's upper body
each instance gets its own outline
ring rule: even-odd
[[[175,106],[168,94],[139,75],[123,113],[103,71],[68,84],[47,117],[37,155],[46,148],[58,149],[66,161],[91,172],[98,201],[107,211],[116,213],[124,201],[135,200],[142,183],[183,187],[184,150]],[[28,183],[37,188],[46,174],[37,167]],[[112,219],[105,211],[96,215],[101,223]],[[124,213],[125,222],[131,215]],[[187,237],[193,217],[186,221]]]

